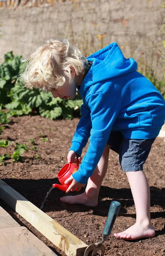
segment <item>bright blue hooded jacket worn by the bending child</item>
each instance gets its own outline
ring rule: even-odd
[[[123,56],[117,43],[87,59],[93,64],[79,89],[82,117],[70,148],[81,155],[90,140],[79,170],[72,175],[83,184],[93,174],[111,130],[120,131],[127,139],[151,139],[165,121],[162,95],[136,71],[136,61]]]

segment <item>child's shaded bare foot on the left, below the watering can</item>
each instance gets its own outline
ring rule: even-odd
[[[60,201],[68,203],[68,204],[83,204],[86,206],[95,207],[98,204],[97,198],[89,198],[84,192],[80,195],[67,195],[60,198]]]

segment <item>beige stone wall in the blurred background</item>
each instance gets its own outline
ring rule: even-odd
[[[85,55],[116,41],[139,68],[162,77],[163,0],[66,0],[0,8],[0,63],[13,50],[24,57],[48,38],[70,38]]]

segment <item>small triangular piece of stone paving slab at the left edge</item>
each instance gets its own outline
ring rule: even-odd
[[[15,221],[14,218],[0,206],[0,229],[8,227],[20,227],[20,224],[18,224],[17,221]]]

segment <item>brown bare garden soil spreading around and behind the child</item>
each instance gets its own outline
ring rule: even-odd
[[[58,183],[57,173],[67,163],[68,149],[78,121],[77,118],[51,121],[41,116],[12,118],[0,135],[0,140],[11,141],[11,145],[8,147],[9,152],[13,153],[15,142],[28,143],[28,147],[31,148],[29,139],[34,139],[37,151],[32,149],[29,149],[28,152],[25,151],[22,163],[14,163],[12,159],[7,160],[6,166],[0,166],[0,178],[40,208],[48,189],[53,183]],[[43,142],[39,136],[40,133],[43,133],[42,136],[48,138],[48,141]],[[86,148],[83,155],[85,150]],[[6,153],[5,148],[0,148],[0,154],[4,153]],[[118,155],[114,151],[111,151],[109,155],[108,172],[100,189],[97,207],[90,208],[62,203],[60,197],[65,196],[65,192],[53,189],[46,200],[43,211],[89,245],[101,240],[109,206],[112,200],[117,200],[121,203],[121,209],[112,234],[105,242],[105,255],[165,256],[164,159],[165,142],[163,138],[158,137],[144,166],[151,189],[151,218],[156,230],[156,235],[152,239],[125,241],[113,236],[113,233],[125,230],[134,224],[136,218],[128,180],[121,170]],[[0,201],[0,205],[55,253],[65,255],[3,201]]]

